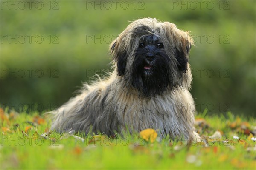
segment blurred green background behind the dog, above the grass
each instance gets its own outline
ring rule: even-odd
[[[108,70],[128,21],[155,17],[191,31],[197,110],[256,113],[256,1],[0,1],[0,102],[44,112]]]

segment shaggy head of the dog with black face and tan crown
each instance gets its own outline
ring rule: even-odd
[[[144,18],[132,22],[111,44],[117,74],[145,96],[190,88],[189,32]]]

